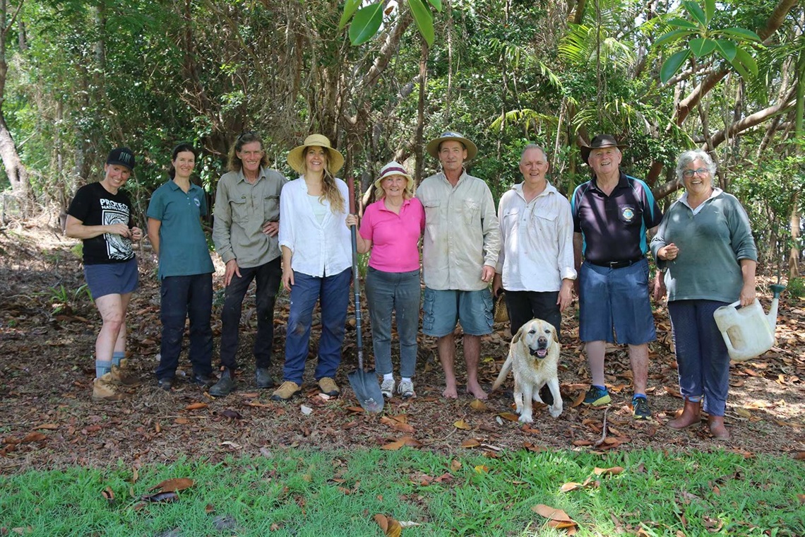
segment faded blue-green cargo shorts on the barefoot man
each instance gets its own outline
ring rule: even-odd
[[[492,333],[492,293],[489,289],[436,291],[425,287],[422,309],[422,332],[426,336],[452,334],[458,321],[464,333],[470,336]]]

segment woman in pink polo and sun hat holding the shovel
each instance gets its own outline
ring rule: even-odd
[[[414,397],[416,334],[419,331],[419,238],[425,229],[425,211],[414,197],[414,180],[405,168],[390,162],[374,182],[378,201],[366,207],[357,235],[357,251],[369,255],[366,299],[372,320],[372,344],[380,390],[394,394],[391,368],[391,313],[397,318],[400,340],[400,375],[397,393]],[[357,218],[347,217],[347,225]]]

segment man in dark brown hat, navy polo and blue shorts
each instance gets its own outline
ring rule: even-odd
[[[592,180],[576,188],[571,202],[580,280],[579,337],[587,344],[592,374],[584,404],[597,407],[611,400],[604,384],[604,357],[607,342],[617,341],[629,345],[634,418],[648,419],[648,342],[656,336],[646,229],[653,235],[663,214],[648,186],[621,171],[621,147],[609,134],[599,134],[581,147]]]

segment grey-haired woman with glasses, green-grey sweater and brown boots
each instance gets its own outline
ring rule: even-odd
[[[712,436],[727,440],[729,354],[713,312],[736,300],[741,306],[753,303],[758,250],[744,208],[735,196],[713,186],[715,173],[716,164],[704,151],[679,155],[676,175],[685,192],[665,213],[651,251],[665,272],[684,398],[681,414],[668,427],[700,423],[704,406]]]

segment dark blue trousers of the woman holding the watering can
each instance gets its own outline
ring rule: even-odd
[[[712,318],[728,303],[716,300],[673,300],[668,303],[676,347],[679,391],[684,397],[704,395],[704,411],[724,415],[729,392],[729,353]]]

